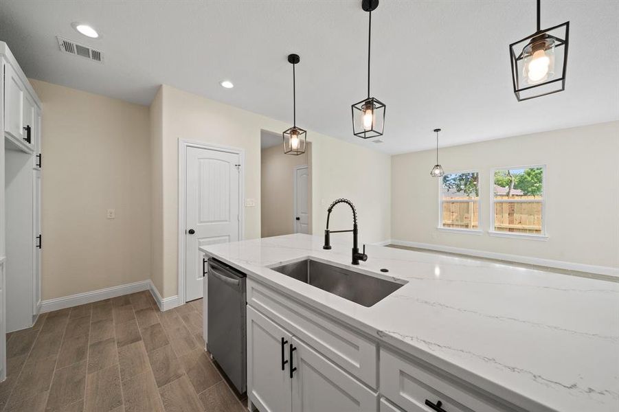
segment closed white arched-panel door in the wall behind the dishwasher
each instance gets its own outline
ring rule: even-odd
[[[239,240],[238,153],[188,147],[185,176],[185,301],[200,299],[205,244]]]

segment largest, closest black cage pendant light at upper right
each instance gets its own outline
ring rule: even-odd
[[[509,45],[514,93],[518,101],[565,90],[570,22],[541,30],[537,0],[537,32]]]

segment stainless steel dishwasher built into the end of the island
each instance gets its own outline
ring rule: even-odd
[[[207,350],[239,393],[247,391],[245,274],[208,260]]]

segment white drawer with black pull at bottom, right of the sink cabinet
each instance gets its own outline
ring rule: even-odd
[[[425,402],[441,402],[447,412],[506,412],[502,405],[460,387],[409,359],[381,348],[381,394],[407,412],[434,412]]]

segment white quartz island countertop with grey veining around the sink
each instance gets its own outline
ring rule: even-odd
[[[619,411],[619,283],[379,246],[353,266],[350,236],[322,243],[296,234],[200,249],[524,409]],[[269,269],[306,257],[407,284],[366,308]]]

